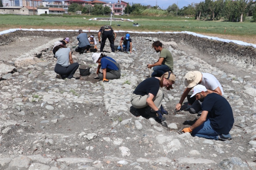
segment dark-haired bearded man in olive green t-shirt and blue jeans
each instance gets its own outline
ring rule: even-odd
[[[151,74],[152,77],[160,77],[167,71],[173,71],[173,57],[169,50],[162,47],[162,43],[160,41],[156,41],[152,43],[152,48],[156,50],[156,52],[160,52],[159,59],[154,64],[148,64],[148,68],[152,68],[154,72]]]

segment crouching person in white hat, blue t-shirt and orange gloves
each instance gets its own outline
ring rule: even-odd
[[[111,57],[108,57],[102,53],[94,53],[92,59],[95,63],[98,63],[97,75],[103,82],[109,82],[109,80],[118,79],[121,77],[120,65]],[[102,73],[99,69],[102,69]]]

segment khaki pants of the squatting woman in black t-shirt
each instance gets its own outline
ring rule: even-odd
[[[147,107],[148,106],[148,104],[146,102],[147,96],[148,95],[141,96],[141,95],[137,95],[137,94],[133,93],[130,98],[131,104],[133,105],[134,108],[137,108],[137,109]],[[157,95],[154,96],[154,98],[153,98],[153,102],[158,109],[160,109],[160,107],[161,107],[163,97],[164,97],[163,92],[161,90],[159,90]]]

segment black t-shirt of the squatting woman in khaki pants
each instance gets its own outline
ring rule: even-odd
[[[148,95],[148,93],[153,94],[154,96],[157,95],[160,88],[160,80],[155,77],[149,77],[143,80],[134,90],[134,94],[137,95]]]

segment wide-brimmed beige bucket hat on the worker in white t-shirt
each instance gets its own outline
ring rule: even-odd
[[[202,78],[202,73],[200,71],[189,71],[184,78],[185,86],[187,86],[187,88],[192,88],[199,83]]]

